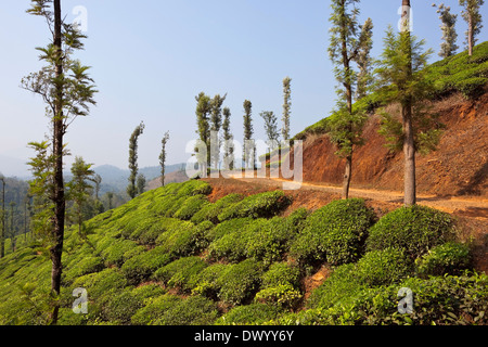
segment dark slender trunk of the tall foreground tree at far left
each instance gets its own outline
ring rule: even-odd
[[[54,220],[53,220],[53,241],[54,244],[50,249],[52,272],[51,272],[51,291],[53,295],[59,296],[61,292],[61,274],[63,266],[61,257],[63,254],[64,241],[64,218],[66,211],[63,181],[63,86],[60,83],[63,76],[62,61],[62,17],[61,17],[61,0],[54,0],[54,49],[56,50],[55,76],[57,83],[55,86],[55,105],[54,105],[54,133],[53,133],[53,152],[54,152]],[[57,313],[60,304],[57,299],[54,301],[54,309],[51,317],[51,324],[57,323]]]

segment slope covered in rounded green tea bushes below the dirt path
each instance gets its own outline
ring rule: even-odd
[[[0,324],[486,324],[488,278],[453,220],[415,206],[378,219],[362,200],[282,211],[281,191],[209,203],[203,181],[172,183],[66,231],[63,290],[49,295],[40,240],[0,260]],[[307,293],[305,279],[333,271]],[[400,288],[413,312],[398,310]],[[75,288],[88,313],[73,311]]]

